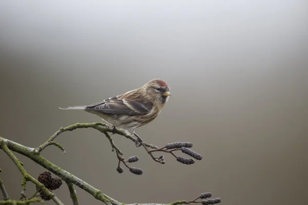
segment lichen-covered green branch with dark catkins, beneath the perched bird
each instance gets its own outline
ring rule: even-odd
[[[191,165],[195,161],[193,159],[186,159],[186,158],[181,157],[181,156],[176,156],[174,154],[174,152],[182,151],[182,153],[187,154],[191,157],[194,157],[197,160],[202,159],[202,156],[200,154],[188,149],[188,148],[192,147],[192,144],[190,142],[173,142],[171,144],[167,144],[167,145],[163,146],[162,148],[158,148],[155,145],[150,145],[150,144],[143,142],[140,137],[135,139],[134,137],[127,135],[123,131],[120,131],[120,130],[117,130],[117,129],[110,129],[108,126],[106,126],[102,122],[95,122],[95,123],[89,123],[89,124],[78,123],[78,124],[74,124],[74,125],[71,125],[71,126],[68,126],[68,127],[65,127],[65,128],[60,128],[46,142],[44,142],[44,144],[42,144],[41,146],[38,146],[37,148],[29,148],[29,147],[20,145],[20,144],[14,142],[14,141],[11,141],[9,139],[0,137],[0,149],[4,150],[4,152],[14,161],[16,167],[23,174],[22,195],[24,194],[24,199],[26,199],[26,201],[30,201],[30,200],[27,200],[26,195],[25,195],[26,183],[27,183],[27,181],[31,181],[36,185],[37,189],[40,189],[44,193],[44,195],[46,195],[46,196],[50,197],[52,200],[54,200],[54,202],[56,204],[62,204],[62,202],[59,199],[56,198],[54,193],[50,192],[49,188],[47,189],[45,187],[46,186],[45,183],[44,183],[44,185],[45,185],[44,186],[43,183],[41,183],[40,181],[37,181],[36,179],[34,179],[31,175],[29,175],[25,171],[25,169],[22,167],[22,163],[20,162],[20,160],[18,160],[15,157],[15,155],[12,153],[12,151],[20,153],[20,154],[30,158],[31,160],[36,162],[38,165],[41,165],[45,169],[49,170],[50,172],[52,172],[53,174],[59,176],[62,180],[64,180],[67,183],[67,186],[69,188],[70,196],[72,198],[73,204],[79,204],[78,203],[78,197],[77,197],[76,192],[75,192],[74,187],[73,187],[73,185],[76,185],[76,186],[80,187],[81,189],[85,190],[86,192],[88,192],[89,194],[91,194],[95,199],[98,199],[98,200],[104,202],[107,205],[125,205],[125,203],[120,203],[117,200],[112,199],[111,197],[107,196],[106,194],[104,194],[99,189],[96,189],[96,188],[92,187],[91,185],[89,185],[87,182],[85,182],[85,181],[81,180],[80,178],[72,175],[71,173],[61,169],[60,167],[57,167],[56,165],[54,165],[54,163],[48,161],[46,158],[44,158],[41,155],[41,152],[50,145],[54,145],[54,146],[60,148],[62,151],[65,152],[64,148],[59,143],[55,142],[54,139],[63,132],[73,131],[73,130],[79,129],[79,128],[94,128],[94,129],[100,131],[101,133],[103,133],[105,135],[105,137],[110,142],[112,151],[115,151],[117,158],[119,160],[118,168],[117,168],[117,171],[119,173],[123,172],[123,169],[120,167],[120,163],[123,163],[125,165],[125,167],[127,167],[130,170],[130,172],[132,172],[134,174],[142,174],[142,170],[139,169],[139,168],[134,168],[134,167],[128,166],[128,163],[138,161],[138,157],[132,156],[132,157],[129,157],[128,159],[125,159],[122,156],[123,153],[114,144],[111,136],[108,133],[112,133],[112,134],[115,133],[115,134],[122,135],[122,136],[130,139],[131,141],[133,141],[136,145],[138,145],[138,144],[142,145],[142,147],[145,148],[147,153],[155,161],[158,161],[160,163],[165,163],[164,157],[163,156],[155,157],[155,156],[153,156],[152,153],[154,153],[154,152],[169,153],[169,154],[175,156],[179,162],[184,163],[186,165]],[[149,149],[149,148],[151,148],[151,149]],[[41,197],[42,197],[42,195],[41,195]],[[167,204],[168,205],[190,204],[190,203],[202,203],[203,205],[206,205],[206,204],[214,204],[214,203],[220,202],[219,198],[202,200],[202,201],[198,201],[197,199],[202,199],[202,198],[198,197],[198,198],[196,198],[195,200],[192,200],[192,201],[175,201],[173,203],[166,203],[166,205]],[[152,203],[152,204],[155,204],[155,203]]]

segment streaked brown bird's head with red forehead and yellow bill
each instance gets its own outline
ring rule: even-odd
[[[143,87],[145,88],[149,100],[160,108],[164,106],[171,95],[168,84],[162,79],[152,79]]]

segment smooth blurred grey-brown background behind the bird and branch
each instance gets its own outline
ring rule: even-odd
[[[307,204],[307,22],[307,1],[1,1],[0,136],[36,147],[62,126],[100,121],[58,107],[162,78],[172,96],[137,133],[158,146],[190,141],[203,160],[165,155],[160,165],[113,135],[144,170],[118,174],[108,140],[91,129],[57,138],[67,154],[43,156],[126,203],[212,192],[224,204]],[[33,176],[44,171],[16,156]],[[19,198],[21,174],[2,151],[0,168]],[[76,191],[80,204],[101,204]],[[71,204],[66,185],[54,192]]]

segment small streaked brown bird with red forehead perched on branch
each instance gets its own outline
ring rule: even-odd
[[[95,114],[111,124],[112,130],[119,128],[140,140],[135,130],[157,118],[170,95],[168,84],[160,78],[155,78],[138,89],[107,98],[99,103],[60,107],[60,109],[84,110]]]

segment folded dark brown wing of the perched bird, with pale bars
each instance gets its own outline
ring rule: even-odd
[[[151,103],[111,97],[87,106],[86,110],[117,115],[145,115],[152,109]]]

